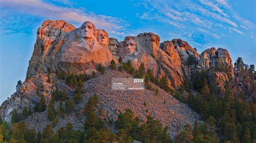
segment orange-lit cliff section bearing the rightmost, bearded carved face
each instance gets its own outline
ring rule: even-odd
[[[154,76],[169,77],[169,86],[177,89],[183,83],[181,62],[177,51],[163,44],[167,54],[159,47],[160,37],[154,33],[140,33],[137,37],[125,37],[119,42],[118,55],[124,62],[130,60],[137,69],[143,62],[146,69],[151,69]],[[172,55],[174,54],[174,56]]]

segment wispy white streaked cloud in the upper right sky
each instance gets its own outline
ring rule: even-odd
[[[196,41],[195,45],[205,45],[203,42],[210,42],[207,39],[223,38],[230,33],[245,34],[254,27],[252,22],[239,17],[226,0],[148,0],[143,6],[146,11],[138,17],[174,26],[170,29]],[[185,34],[187,31],[193,34]]]

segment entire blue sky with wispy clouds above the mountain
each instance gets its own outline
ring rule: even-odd
[[[26,70],[44,20],[79,27],[89,20],[119,41],[153,32],[161,42],[180,38],[198,52],[228,49],[233,63],[242,57],[256,65],[254,0],[181,1],[14,1],[0,0],[0,103],[15,92]]]

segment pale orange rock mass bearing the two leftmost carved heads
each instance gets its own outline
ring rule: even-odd
[[[83,28],[84,25],[92,29]],[[109,39],[105,40],[107,34],[104,37],[105,32],[101,30],[97,37],[98,31],[95,28],[92,23],[85,22],[80,28],[72,31],[64,39],[64,44],[56,57],[55,66],[71,73],[91,73],[99,63],[107,67],[113,59],[109,48],[105,46]],[[89,35],[89,38],[83,36],[84,33]]]

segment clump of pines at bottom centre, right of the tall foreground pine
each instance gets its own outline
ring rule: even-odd
[[[116,127],[119,129],[119,140],[120,137],[125,140],[136,139],[139,141],[160,141],[160,142],[171,142],[167,128],[163,128],[160,122],[154,120],[152,117],[147,117],[147,122],[140,127],[139,118],[134,117],[130,109],[126,109],[126,112],[118,116],[116,121]]]

